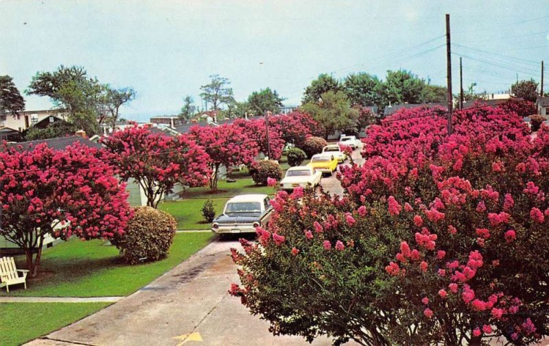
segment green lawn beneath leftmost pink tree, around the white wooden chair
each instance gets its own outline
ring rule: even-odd
[[[43,252],[40,273],[22,286],[10,287],[9,295],[31,297],[125,296],[169,271],[212,239],[209,233],[178,233],[164,260],[130,266],[121,262],[118,249],[104,240],[70,240]],[[17,267],[25,267],[23,256]],[[0,295],[8,295],[4,290]]]

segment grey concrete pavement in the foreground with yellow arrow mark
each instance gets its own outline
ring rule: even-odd
[[[240,245],[215,241],[130,297],[27,345],[309,345],[272,336],[266,321],[227,294],[238,280],[231,247]]]

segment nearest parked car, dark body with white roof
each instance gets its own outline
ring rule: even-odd
[[[215,233],[255,232],[258,226],[267,225],[272,213],[267,195],[235,196],[225,204],[223,214],[213,220]]]

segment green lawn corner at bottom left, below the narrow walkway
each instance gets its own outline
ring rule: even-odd
[[[78,321],[108,303],[0,304],[0,345],[16,346]]]

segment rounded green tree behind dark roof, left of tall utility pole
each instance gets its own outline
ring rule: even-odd
[[[425,81],[410,71],[387,71],[384,101],[387,103],[421,103]]]

